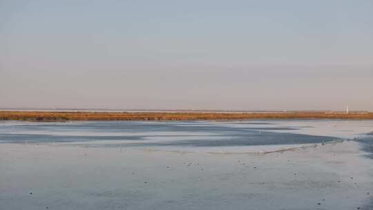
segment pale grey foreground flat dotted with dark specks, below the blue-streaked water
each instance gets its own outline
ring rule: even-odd
[[[369,209],[372,162],[362,155],[356,142],[267,155],[2,144],[0,205],[31,210]]]

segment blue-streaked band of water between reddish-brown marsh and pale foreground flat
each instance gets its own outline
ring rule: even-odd
[[[370,131],[372,124],[345,120],[1,122],[0,142],[243,153],[354,138]]]

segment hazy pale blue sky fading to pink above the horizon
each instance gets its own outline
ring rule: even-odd
[[[373,111],[373,1],[0,0],[0,108]]]

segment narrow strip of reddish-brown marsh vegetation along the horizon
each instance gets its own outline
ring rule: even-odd
[[[341,119],[373,120],[370,112],[88,112],[88,111],[0,111],[0,120],[37,122],[65,121],[187,121],[187,120],[276,120]]]

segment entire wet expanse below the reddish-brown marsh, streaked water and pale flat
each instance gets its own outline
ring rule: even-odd
[[[0,122],[0,209],[371,209],[372,129],[345,120]]]

